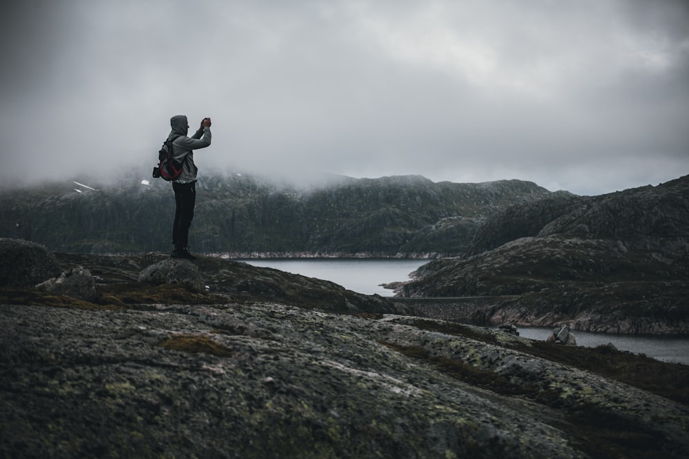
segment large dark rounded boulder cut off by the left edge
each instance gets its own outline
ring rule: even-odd
[[[0,238],[0,287],[34,286],[59,274],[60,265],[45,246]]]

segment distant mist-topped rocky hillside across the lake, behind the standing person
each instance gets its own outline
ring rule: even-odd
[[[70,252],[169,250],[169,184],[129,180],[81,191],[53,185],[3,192],[0,237]],[[209,177],[197,185],[190,244],[200,253],[461,253],[487,215],[550,194],[517,180],[341,178],[306,191],[246,176]]]

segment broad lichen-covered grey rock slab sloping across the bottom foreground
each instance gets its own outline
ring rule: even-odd
[[[644,438],[667,457],[686,457],[685,406],[432,330],[452,326],[275,303],[141,310],[4,305],[0,451],[8,457],[583,458],[590,426],[577,437],[566,416],[586,409],[626,420],[629,433],[620,435]],[[531,345],[471,330],[495,333],[496,343],[512,347]],[[457,379],[464,367],[502,378],[508,390]]]

